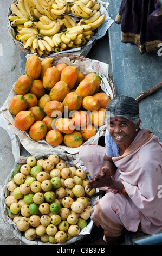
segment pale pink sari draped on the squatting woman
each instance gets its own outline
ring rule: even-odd
[[[102,167],[105,148],[86,145],[80,159],[91,176]],[[124,155],[113,157],[115,180],[124,184],[128,196],[108,187],[92,208],[92,220],[109,236],[120,236],[125,227],[146,234],[162,230],[162,143],[148,129],[141,129]],[[94,168],[95,167],[95,168]]]

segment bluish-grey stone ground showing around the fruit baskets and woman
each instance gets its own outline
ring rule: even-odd
[[[1,1],[0,107],[7,99],[12,84],[23,74],[25,63],[24,54],[14,45],[7,32],[7,12],[11,2],[11,0]],[[109,0],[108,2],[109,16],[115,19],[121,1]],[[111,40],[110,44],[109,39]],[[137,97],[140,92],[162,81],[161,58],[157,56],[157,52],[154,51],[141,56],[137,47],[122,44],[120,41],[120,25],[115,23],[111,25],[108,33],[96,42],[87,57],[109,64],[109,74],[113,78],[116,94]],[[159,136],[160,141],[162,141],[161,93],[160,89],[140,102],[142,127],[151,129]],[[7,131],[0,127],[0,132],[0,188],[2,188],[15,160]],[[27,154],[22,147],[20,153],[21,155]],[[0,218],[0,244],[20,244],[20,241],[12,235],[2,218]]]

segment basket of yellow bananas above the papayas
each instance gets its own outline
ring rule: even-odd
[[[111,23],[99,0],[14,0],[8,9],[7,27],[20,51],[47,57],[93,44]]]

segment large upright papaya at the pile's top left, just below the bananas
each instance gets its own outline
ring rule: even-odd
[[[38,56],[33,55],[27,59],[25,64],[25,74],[31,76],[32,80],[40,77],[41,69],[41,60],[38,58]]]

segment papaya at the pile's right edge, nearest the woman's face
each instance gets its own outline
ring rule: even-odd
[[[97,129],[104,125],[106,119],[106,109],[100,108],[98,111],[92,111],[89,114],[91,124]]]

